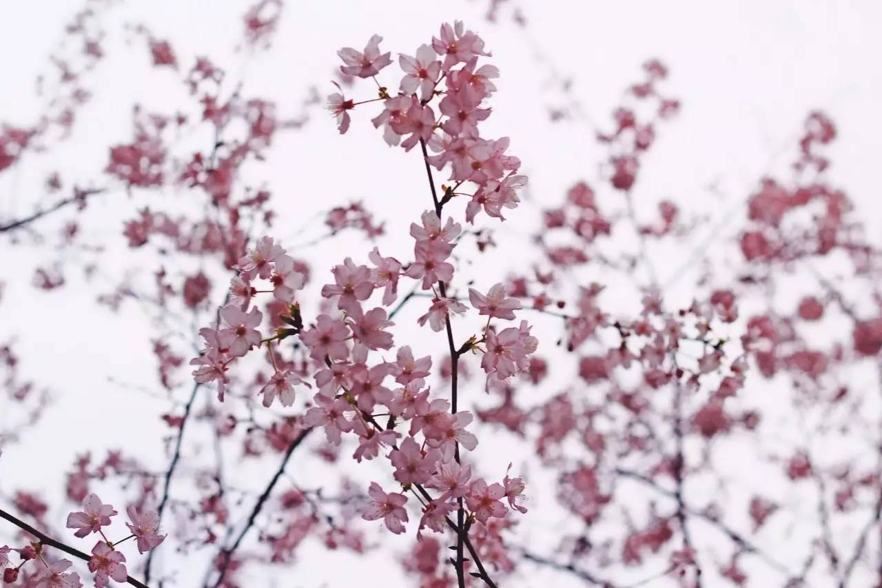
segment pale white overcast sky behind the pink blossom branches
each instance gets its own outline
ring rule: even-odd
[[[114,9],[111,21],[116,28],[111,28],[105,41],[108,63],[101,64],[86,84],[95,97],[81,110],[74,139],[48,155],[28,156],[16,169],[0,176],[0,217],[26,214],[34,204],[51,201],[54,197],[41,200],[40,196],[48,170],[61,170],[63,177],[80,183],[89,178],[103,180],[106,147],[131,139],[133,102],[143,103],[148,110],[183,103],[185,90],[176,74],[148,69],[146,43],[124,32],[121,23],[143,22],[157,37],[172,41],[184,68],[194,55],[208,55],[228,65],[235,78],[235,64],[243,63],[243,57],[231,48],[239,38],[241,15],[249,4],[155,0]],[[0,121],[26,123],[40,111],[39,101],[34,100],[34,77],[46,72],[62,26],[79,7],[71,0],[31,0],[5,6],[0,17]],[[280,114],[295,116],[308,87],[318,86],[322,95],[332,91],[328,80],[338,65],[336,50],[340,47],[360,49],[371,34],[378,33],[385,37],[384,50],[393,55],[413,54],[419,44],[437,34],[441,22],[465,20],[482,34],[493,51],[492,62],[501,70],[493,115],[486,125],[488,135],[512,137],[512,153],[521,158],[522,169],[530,177],[531,196],[538,201],[538,206],[525,204],[512,212],[511,221],[497,233],[497,240],[502,241],[534,229],[540,222],[540,207],[559,202],[575,181],[594,181],[604,152],[597,146],[594,127],[588,121],[608,131],[609,115],[624,88],[641,77],[640,64],[648,57],[659,57],[671,74],[663,82],[662,92],[679,98],[683,109],[676,119],[657,129],[657,141],[644,159],[635,192],[639,215],[648,218],[654,214],[655,202],[670,198],[683,207],[694,206],[696,214],[709,215],[706,228],[696,233],[696,243],[711,230],[724,240],[738,223],[717,222],[733,211],[736,217],[741,215],[741,205],[759,177],[786,173],[804,117],[812,109],[823,109],[839,132],[828,150],[834,184],[841,185],[865,211],[868,229],[877,234],[882,230],[878,178],[873,173],[882,153],[882,109],[878,108],[882,98],[878,67],[882,4],[542,2],[525,5],[528,41],[507,18],[507,10],[501,23],[494,25],[483,19],[484,9],[483,3],[476,2],[290,3],[273,49],[254,57],[243,71],[247,92],[274,100]],[[130,39],[134,41],[126,46]],[[537,52],[548,63],[537,61]],[[563,77],[573,79],[572,96],[581,103],[587,120],[549,124],[549,105],[560,104],[559,92],[549,90],[549,64]],[[384,72],[388,79],[381,79],[393,88],[397,78],[392,80],[391,71]],[[350,92],[355,98],[373,97],[374,93],[368,83],[356,85]],[[328,207],[363,199],[378,219],[386,222],[389,235],[379,242],[381,251],[407,251],[407,223],[429,203],[424,171],[415,153],[385,147],[369,122],[372,116],[372,110],[356,109],[350,132],[340,137],[333,120],[318,112],[302,131],[276,138],[268,162],[259,170],[261,177],[250,179],[268,185],[274,201],[282,203],[279,226],[283,228],[277,230],[278,237],[288,237]],[[197,138],[201,139],[205,138]],[[90,217],[97,216],[90,220],[89,230],[94,232],[89,240],[107,243],[110,248],[103,258],[110,261],[101,268],[107,278],[97,284],[104,292],[113,288],[131,255],[124,247],[119,219],[131,216],[136,204],[141,204],[129,200],[122,190],[96,202],[97,206],[87,211]],[[99,213],[99,207],[106,215]],[[45,222],[47,230],[57,226],[55,221]],[[344,238],[300,254],[312,263],[315,282],[320,285],[326,275],[324,268],[344,255],[353,254],[359,260],[366,253],[357,239]],[[503,252],[511,259],[509,253]],[[61,486],[72,456],[89,449],[101,455],[108,447],[137,446],[138,456],[156,469],[164,469],[166,464],[158,440],[167,429],[156,417],[168,410],[168,403],[114,383],[150,382],[151,391],[157,391],[153,384],[155,359],[146,348],[146,336],[140,335],[150,332],[149,321],[131,303],[120,314],[97,308],[96,284],[86,285],[75,275],[68,276],[70,284],[63,290],[44,293],[32,289],[28,284],[34,265],[60,255],[76,259],[78,253],[59,253],[38,245],[13,248],[0,242],[0,281],[9,284],[0,303],[0,340],[17,336],[24,373],[45,383],[56,398],[40,429],[11,446],[0,461],[0,498],[19,488],[50,488],[47,494],[52,496],[54,488]],[[679,261],[659,260],[656,265],[662,282]],[[479,286],[486,289],[503,278],[483,276]],[[143,279],[149,280],[149,276]],[[689,281],[681,283],[688,286]],[[689,291],[679,293],[688,296]],[[401,322],[412,320],[418,315],[416,310],[402,313]],[[397,341],[407,336],[407,331],[402,333]],[[185,394],[185,388],[178,394]],[[479,403],[481,400],[478,398]],[[0,429],[6,424],[4,418],[0,406]],[[90,424],[95,419],[100,420],[100,427]],[[492,448],[492,441],[487,446]],[[510,457],[495,455],[491,449],[482,455],[486,456],[482,464],[495,468],[484,473],[501,477]],[[292,471],[299,473],[306,467],[296,464],[296,457],[294,462]],[[356,469],[355,463],[345,459],[340,464]],[[370,477],[364,471],[371,467],[363,467],[361,479]],[[265,477],[265,473],[256,474],[257,479]],[[541,506],[542,501],[554,501],[553,494],[543,498],[539,489],[531,494],[531,508]],[[60,522],[65,515],[66,511],[58,509],[50,512],[49,519],[55,516]],[[543,544],[535,538],[551,533],[556,524],[553,520],[534,522],[533,547],[543,553],[553,549],[550,539]],[[370,525],[368,537],[380,539],[385,534]],[[0,528],[0,544],[8,538],[7,530]],[[389,545],[398,548],[395,542]],[[408,585],[399,567],[391,563],[392,556],[356,560],[325,554],[315,543],[308,543],[300,552],[295,582],[288,576],[277,585],[337,586],[364,573],[381,575],[387,583],[384,585]],[[350,565],[357,567],[347,567]],[[198,573],[202,569],[200,563]],[[759,576],[751,579],[762,581]],[[520,577],[519,583],[512,585],[546,581],[578,585],[567,584],[572,583],[571,578],[548,571],[537,571],[529,579]],[[251,585],[264,585],[255,582]]]

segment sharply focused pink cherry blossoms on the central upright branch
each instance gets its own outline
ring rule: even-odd
[[[363,51],[342,49],[342,72],[360,78],[377,76],[392,63],[390,54],[379,49],[381,40],[375,35]],[[420,502],[420,535],[427,528],[441,532],[450,527],[461,541],[467,532],[467,527],[459,526],[463,516],[469,525],[486,525],[492,518],[505,518],[510,509],[526,511],[516,503],[525,487],[523,479],[506,475],[501,482],[488,482],[473,473],[473,465],[461,461],[460,449],[471,451],[478,443],[475,433],[468,430],[474,417],[469,411],[455,409],[455,381],[449,400],[432,395],[427,384],[432,358],[415,357],[408,345],[395,347],[391,317],[397,311],[387,311],[399,298],[400,282],[409,279],[414,282],[413,290],[401,304],[419,290],[430,290],[430,308],[418,322],[428,321],[433,330],[447,331],[453,369],[468,352],[483,354],[481,365],[488,382],[502,382],[529,369],[529,356],[538,342],[530,335],[527,321],[510,328],[497,328],[494,323],[514,320],[514,312],[521,308],[501,283],[486,294],[469,290],[468,300],[477,316],[487,320],[482,332],[460,346],[453,343],[451,314],[466,313],[467,306],[451,293],[456,270],[451,255],[462,227],[452,216],[443,215],[445,205],[466,196],[468,222],[474,222],[481,210],[502,219],[502,209],[517,206],[516,191],[527,182],[526,177],[515,175],[519,160],[505,153],[509,139],[482,139],[478,132],[478,124],[490,115],[483,102],[496,89],[490,81],[497,77],[496,68],[477,64],[478,57],[487,55],[481,38],[464,30],[462,23],[444,25],[439,37],[422,45],[415,58],[400,57],[405,72],[400,94],[392,97],[380,86],[379,98],[365,101],[383,102],[384,109],[373,123],[384,127],[387,143],[400,144],[406,150],[417,143],[422,147],[434,209],[425,211],[420,222],[410,226],[413,260],[385,257],[376,247],[368,255],[370,265],[347,257],[332,269],[333,282],[321,289],[325,313],[304,326],[300,301],[295,299],[303,276],[272,237],[263,237],[239,260],[230,303],[220,310],[222,323],[200,331],[206,351],[191,361],[199,366],[193,373],[196,381],[216,381],[222,399],[231,364],[265,344],[273,375],[262,390],[264,404],[270,406],[278,396],[289,406],[294,403],[295,385],[308,384],[299,375],[280,370],[274,357],[284,340],[297,337],[309,356],[318,388],[312,407],[302,418],[303,426],[324,428],[332,445],[339,445],[344,433],[355,435],[358,442],[353,457],[359,462],[380,456],[388,460],[401,492],[371,483],[363,518],[383,519],[393,533],[405,531],[407,493]],[[438,98],[440,117],[436,118],[432,104]],[[348,129],[349,110],[363,103],[342,94],[331,96],[329,104],[341,132]],[[427,147],[437,155],[429,155]],[[442,186],[440,197],[430,165],[451,170],[454,185]],[[467,183],[474,188],[460,192]],[[268,280],[272,288],[258,290],[252,285],[258,278]],[[265,337],[259,330],[263,314],[252,305],[258,293],[272,293],[285,309],[273,317],[274,323],[283,326]],[[375,293],[381,294],[379,305],[371,302]],[[389,351],[395,353],[393,361],[382,357]],[[385,425],[379,422],[381,417],[386,419]],[[439,494],[433,497],[429,490]],[[450,517],[457,510],[459,525]],[[460,558],[458,574],[463,574],[463,569]]]

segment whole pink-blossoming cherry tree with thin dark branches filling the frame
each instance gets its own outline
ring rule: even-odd
[[[45,194],[0,216],[4,251],[34,257],[3,275],[0,309],[54,301],[51,333],[0,333],[5,584],[232,588],[309,569],[320,585],[338,561],[377,574],[350,580],[388,584],[392,562],[439,588],[882,582],[882,264],[825,113],[798,115],[789,171],[750,178],[696,245],[707,211],[641,175],[688,108],[658,59],[591,123],[602,160],[555,194],[492,116],[513,100],[498,27],[530,26],[517,6],[415,47],[381,30],[311,55],[333,81],[274,102],[247,73],[273,57],[282,0],[234,15],[224,59],[117,4],[86,3],[39,80],[45,107],[0,126],[0,181],[31,166]],[[63,173],[115,58],[171,99],[133,103],[100,169]],[[548,123],[584,122],[559,88]],[[375,177],[341,165],[326,182],[386,192],[400,174],[407,194],[273,188],[307,124],[373,141]],[[405,198],[419,212],[402,220]],[[65,390],[19,350],[60,365],[53,338],[78,317],[135,317],[119,344],[143,381],[71,415],[96,436],[69,439],[51,424]],[[132,410],[144,396],[159,414]],[[155,436],[134,433],[144,421]],[[40,491],[4,467],[47,459],[38,435],[75,454]]]

